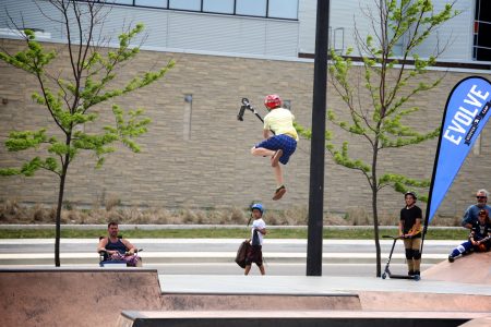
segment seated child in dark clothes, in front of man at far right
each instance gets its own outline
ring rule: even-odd
[[[455,247],[448,255],[448,262],[453,263],[459,255],[471,252],[488,252],[491,247],[491,222],[489,211],[481,209],[478,214],[478,220],[474,222],[469,240]]]

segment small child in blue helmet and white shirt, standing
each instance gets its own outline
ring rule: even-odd
[[[249,275],[251,271],[251,265],[256,264],[260,268],[261,275],[265,275],[263,265],[263,235],[266,234],[266,222],[263,220],[264,207],[260,203],[255,203],[251,206],[251,215],[254,218],[251,228],[251,246],[246,258],[244,275]]]

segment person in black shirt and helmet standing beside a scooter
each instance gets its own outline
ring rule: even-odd
[[[421,208],[416,205],[415,192],[404,194],[406,206],[400,210],[399,237],[404,239],[408,275],[420,275],[421,265]]]

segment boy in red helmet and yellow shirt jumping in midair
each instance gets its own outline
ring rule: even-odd
[[[253,156],[271,157],[276,179],[276,191],[273,199],[280,199],[286,193],[279,162],[286,165],[297,149],[298,134],[294,126],[295,116],[290,110],[282,108],[282,99],[273,94],[266,96],[264,106],[270,111],[264,117],[264,141],[252,149]]]

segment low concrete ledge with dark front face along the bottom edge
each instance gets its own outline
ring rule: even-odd
[[[207,311],[123,312],[118,326],[124,327],[270,327],[270,326],[459,326],[484,313],[362,312],[362,311]]]

